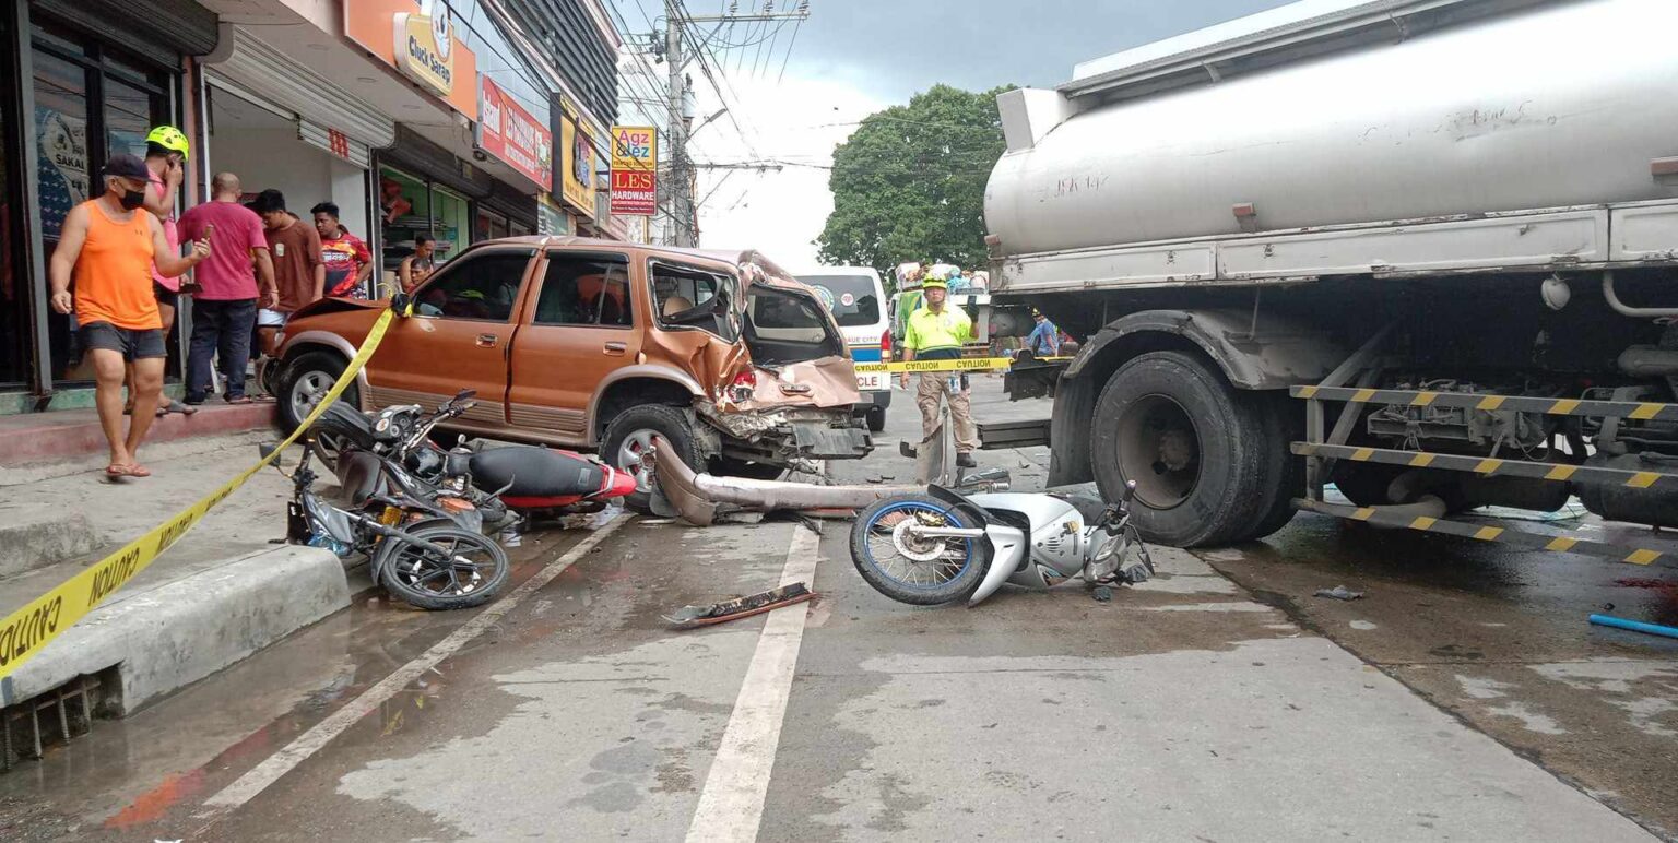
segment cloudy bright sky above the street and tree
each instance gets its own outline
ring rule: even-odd
[[[619,5],[633,28],[641,25],[638,0],[607,2]],[[661,5],[639,3],[648,13]],[[688,0],[693,15],[727,5]],[[827,171],[819,168],[869,112],[940,82],[970,91],[1052,87],[1071,79],[1077,62],[1279,5],[1284,0],[809,0],[810,17],[799,27],[790,60],[792,25],[738,23],[717,32],[710,45],[723,92],[718,97],[695,69],[700,116],[732,107],[695,134],[695,159],[804,166],[701,171],[701,245],[753,246],[787,266],[812,265],[810,241],[832,209]],[[753,7],[763,0],[738,2],[742,12]],[[651,89],[644,80],[628,82],[631,91]]]

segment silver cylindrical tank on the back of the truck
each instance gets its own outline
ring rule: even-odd
[[[1678,0],[1586,0],[1074,114],[1008,153],[1008,255],[1678,196]]]

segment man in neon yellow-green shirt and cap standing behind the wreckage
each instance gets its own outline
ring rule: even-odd
[[[960,360],[961,344],[973,339],[973,322],[958,308],[945,307],[950,298],[950,282],[943,275],[928,272],[921,280],[921,298],[925,307],[909,313],[903,335],[903,362],[911,360]],[[903,389],[909,387],[909,374],[901,375]],[[915,392],[915,406],[921,409],[921,436],[930,437],[938,427],[938,401],[950,404],[950,417],[955,422],[955,464],[975,468],[973,449],[978,447],[978,434],[973,429],[973,407],[967,390],[967,375],[953,372],[921,372],[920,389]]]

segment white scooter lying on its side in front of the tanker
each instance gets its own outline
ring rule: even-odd
[[[1153,575],[1131,525],[1131,483],[1114,504],[1047,494],[926,494],[884,498],[856,518],[851,561],[879,593],[915,605],[980,600],[1002,583],[1049,588],[1082,577],[1096,598]]]

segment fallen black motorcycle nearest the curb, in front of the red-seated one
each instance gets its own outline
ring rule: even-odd
[[[272,444],[262,446],[263,458],[272,451]],[[312,456],[305,447],[290,474],[289,541],[327,548],[339,558],[366,555],[373,582],[420,608],[470,608],[507,585],[507,553],[472,526],[477,520],[468,511],[431,503],[435,489],[364,451],[341,456],[349,508],[332,506],[314,491]]]

